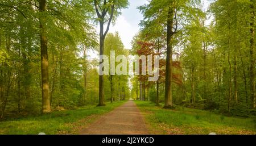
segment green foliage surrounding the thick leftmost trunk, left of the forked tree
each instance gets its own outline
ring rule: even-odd
[[[46,19],[53,110],[80,104],[80,47],[97,46],[90,1],[0,2],[0,118],[39,114],[42,102],[39,18]]]

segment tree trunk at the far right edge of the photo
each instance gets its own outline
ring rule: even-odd
[[[255,30],[254,30],[254,1],[251,0],[251,20],[250,20],[250,90],[251,90],[251,107],[255,108]]]

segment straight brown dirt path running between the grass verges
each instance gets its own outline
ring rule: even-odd
[[[141,112],[134,101],[128,101],[101,116],[80,134],[148,134]]]

